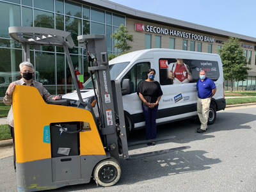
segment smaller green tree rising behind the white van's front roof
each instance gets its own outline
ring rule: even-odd
[[[121,24],[117,31],[115,31],[111,37],[115,40],[117,49],[121,50],[121,53],[129,51],[132,47],[128,45],[127,41],[133,42],[133,35],[129,34],[124,24]]]

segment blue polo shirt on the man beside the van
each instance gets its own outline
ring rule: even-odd
[[[199,79],[196,83],[197,96],[200,99],[205,99],[211,96],[212,90],[216,88],[215,83],[212,79],[205,77],[204,81]]]

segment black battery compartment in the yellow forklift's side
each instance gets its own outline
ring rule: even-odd
[[[61,127],[65,131],[61,132]],[[79,129],[80,122],[54,123],[51,130],[52,157],[79,156]]]

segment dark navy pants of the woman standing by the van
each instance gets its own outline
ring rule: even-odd
[[[156,116],[158,106],[154,108],[148,108],[148,106],[144,106],[142,104],[142,109],[145,117],[146,139],[156,139]]]

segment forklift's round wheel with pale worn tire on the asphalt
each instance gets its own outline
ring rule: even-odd
[[[113,186],[121,176],[121,168],[115,158],[104,159],[95,166],[93,179],[102,187]]]

